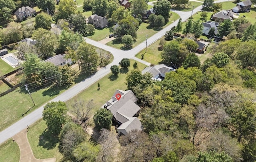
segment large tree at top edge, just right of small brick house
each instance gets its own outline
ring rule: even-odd
[[[145,11],[148,9],[148,4],[145,0],[134,0],[132,1],[132,14],[145,14]]]

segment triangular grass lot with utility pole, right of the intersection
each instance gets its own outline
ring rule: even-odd
[[[158,50],[159,42],[160,42],[160,39],[154,42],[153,44],[151,44],[150,46],[148,46],[146,53],[144,49],[140,53],[136,54],[136,57],[141,59],[141,55],[144,54],[144,58],[143,58],[144,61],[150,62],[155,65],[159,64],[159,62],[162,61],[162,58],[161,58],[162,51]]]

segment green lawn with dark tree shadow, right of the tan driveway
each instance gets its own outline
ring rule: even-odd
[[[38,120],[28,131],[28,142],[37,159],[56,158],[56,162],[62,160],[62,154],[58,149],[58,137],[52,136],[45,131],[46,122],[42,119]],[[41,136],[41,140],[40,140]]]

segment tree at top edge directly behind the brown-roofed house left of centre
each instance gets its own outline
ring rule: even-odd
[[[106,16],[108,11],[108,0],[92,0],[92,13]]]

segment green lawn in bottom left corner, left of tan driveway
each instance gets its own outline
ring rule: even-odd
[[[0,162],[19,162],[20,148],[12,139],[8,139],[0,145]]]

